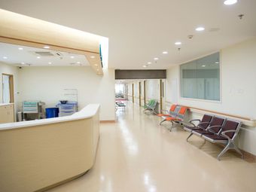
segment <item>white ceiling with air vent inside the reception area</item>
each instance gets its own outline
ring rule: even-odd
[[[54,56],[37,58],[35,52],[50,52]],[[84,55],[5,43],[0,43],[0,62],[15,66],[90,66]]]

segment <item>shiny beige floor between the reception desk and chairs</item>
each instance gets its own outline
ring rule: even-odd
[[[169,132],[159,118],[132,104],[117,112],[117,123],[102,123],[96,163],[86,175],[53,192],[256,191],[256,163],[180,128]]]

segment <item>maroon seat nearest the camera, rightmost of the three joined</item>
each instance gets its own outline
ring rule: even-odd
[[[211,133],[211,134],[204,134],[202,137],[203,139],[206,139],[209,142],[212,143],[221,143],[226,145],[225,148],[221,151],[220,154],[218,154],[218,160],[220,160],[221,156],[226,153],[229,149],[236,150],[237,153],[241,154],[242,158],[242,152],[239,150],[239,148],[236,147],[236,144],[234,140],[236,139],[236,136],[239,133],[239,129],[241,127],[242,123],[236,120],[225,120],[224,126],[221,127],[221,131],[218,134]],[[209,128],[209,131],[211,131],[212,128]],[[214,131],[214,130],[212,130]]]

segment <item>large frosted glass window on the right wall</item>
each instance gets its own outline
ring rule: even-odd
[[[220,54],[181,65],[181,97],[220,100]]]

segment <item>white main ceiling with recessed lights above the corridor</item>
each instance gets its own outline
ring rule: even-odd
[[[109,39],[108,66],[168,69],[256,35],[256,1],[239,0],[35,1],[1,0],[1,8]],[[245,14],[242,20],[237,17]],[[205,32],[195,32],[204,26]],[[219,29],[210,32],[210,29]],[[189,39],[187,35],[194,35]],[[175,46],[181,41],[181,50]],[[163,50],[169,53],[163,55]]]

